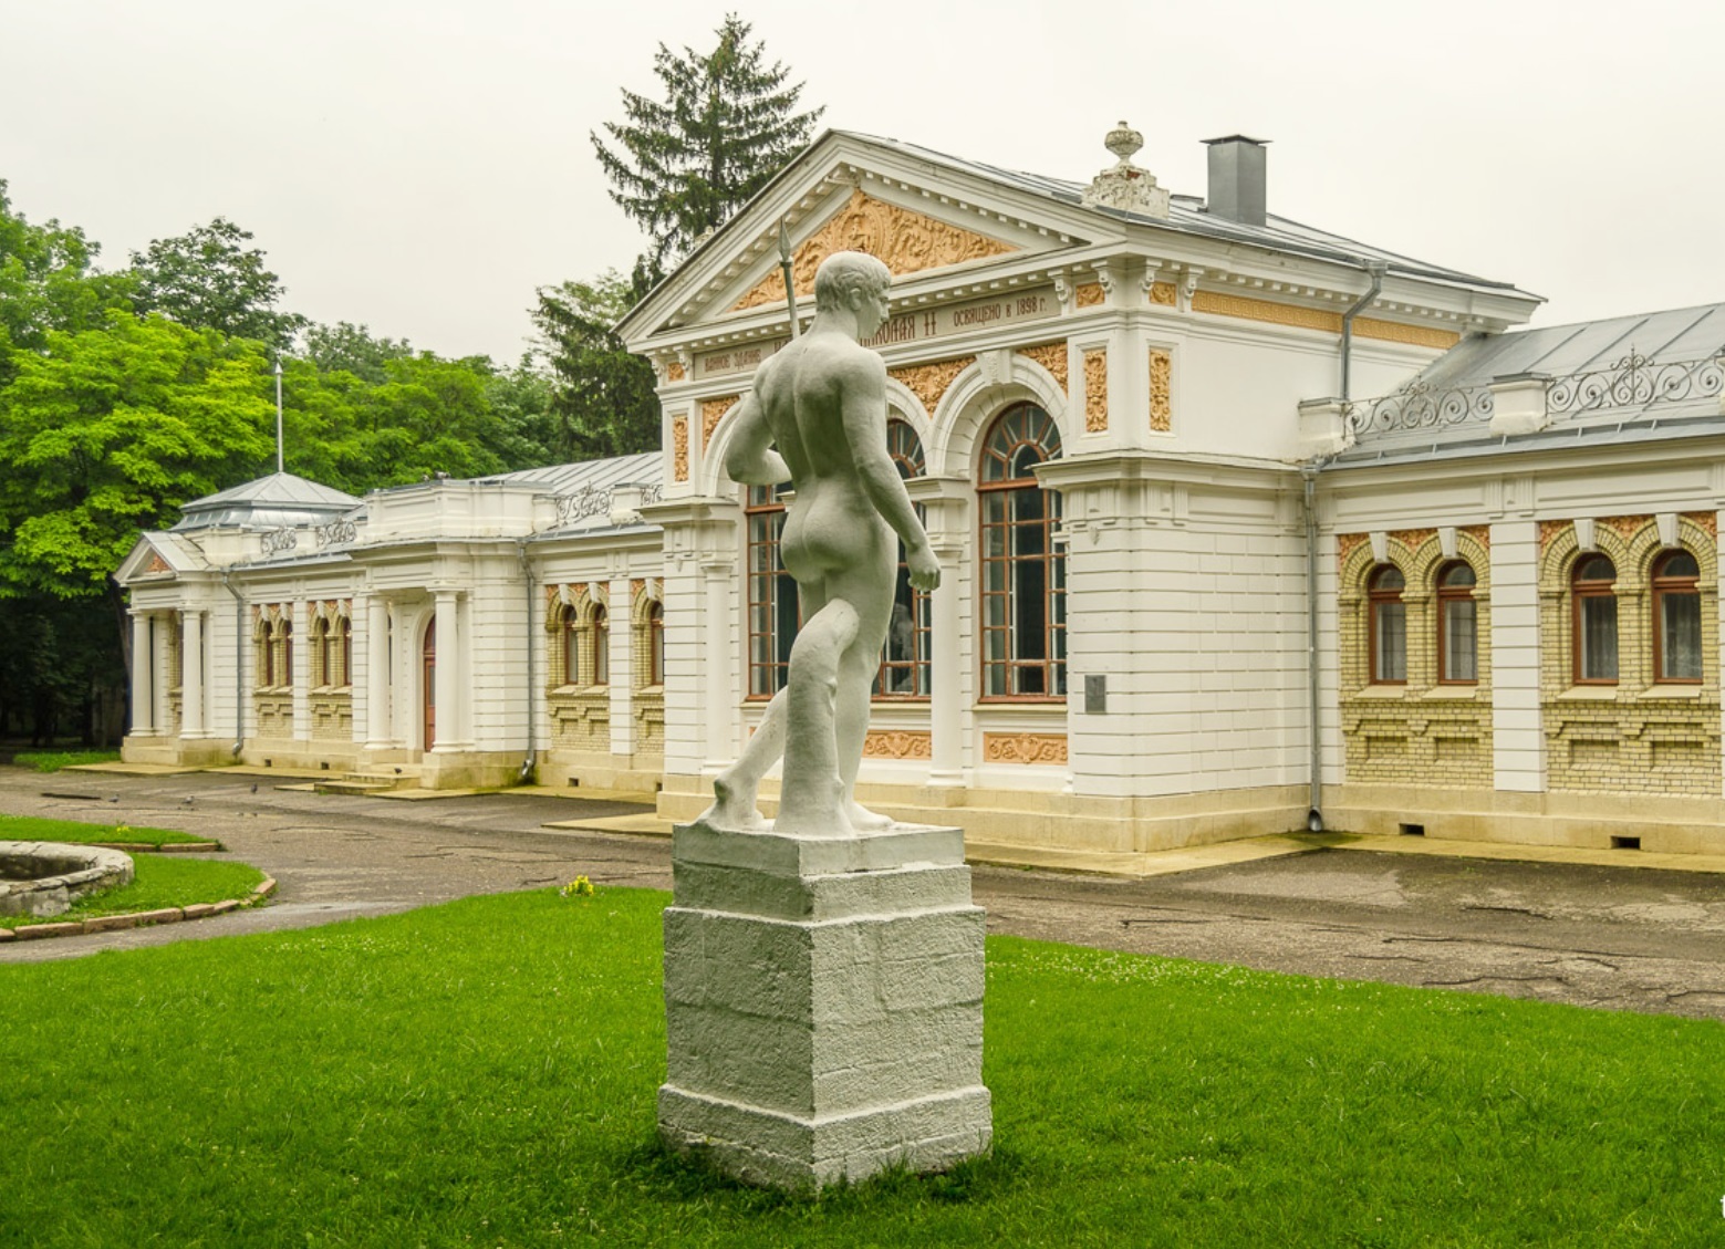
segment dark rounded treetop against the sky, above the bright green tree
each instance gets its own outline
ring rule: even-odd
[[[193,330],[229,338],[257,338],[286,348],[305,324],[297,312],[276,312],[283,286],[248,229],[226,217],[157,238],[131,254],[140,312],[162,312]]]

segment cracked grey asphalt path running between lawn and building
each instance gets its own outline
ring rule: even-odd
[[[550,830],[642,807],[540,794],[407,802],[233,773],[41,776],[0,766],[0,813],[178,828],[278,880],[217,919],[0,945],[0,964],[304,928],[469,894],[671,887],[659,837]],[[956,813],[963,816],[963,813]],[[1577,1006],[1725,1020],[1725,876],[1316,849],[1149,880],[978,866],[988,930]]]

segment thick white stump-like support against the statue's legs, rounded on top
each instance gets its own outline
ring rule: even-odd
[[[850,832],[833,704],[840,664],[856,637],[856,607],[833,597],[804,621],[790,649],[785,780],[773,825],[776,832],[811,837]]]

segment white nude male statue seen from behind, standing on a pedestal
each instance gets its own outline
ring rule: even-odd
[[[724,471],[743,485],[795,486],[780,555],[797,580],[802,628],[785,688],[714,780],[718,800],[702,818],[718,828],[766,826],[756,790],[780,756],[776,832],[842,837],[892,823],[857,806],[856,781],[892,619],[894,537],[918,590],[940,585],[940,566],[887,454],[887,366],[859,345],[887,321],[890,281],[862,252],[826,257],[814,321],[761,366],[737,409]]]

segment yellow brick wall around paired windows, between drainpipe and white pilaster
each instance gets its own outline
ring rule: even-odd
[[[1399,785],[1492,785],[1492,612],[1490,531],[1458,530],[1456,557],[1468,561],[1478,621],[1475,685],[1437,681],[1437,571],[1449,562],[1435,530],[1389,535],[1389,562],[1408,581],[1406,685],[1371,685],[1366,654],[1370,624],[1366,580],[1377,568],[1363,533],[1339,537],[1342,742],[1349,781]]]

